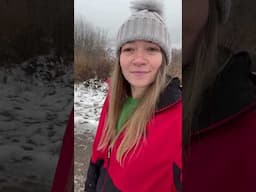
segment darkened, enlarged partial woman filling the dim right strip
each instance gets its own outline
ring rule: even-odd
[[[254,64],[218,45],[230,5],[183,1],[184,192],[256,191]]]

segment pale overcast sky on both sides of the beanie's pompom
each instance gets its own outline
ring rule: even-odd
[[[163,0],[166,24],[173,47],[181,47],[181,0]],[[81,17],[107,31],[114,39],[121,24],[131,15],[131,0],[75,0],[75,19]]]

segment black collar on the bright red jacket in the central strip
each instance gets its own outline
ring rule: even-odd
[[[162,111],[181,100],[181,85],[178,78],[169,79],[169,84],[160,94],[156,112]]]

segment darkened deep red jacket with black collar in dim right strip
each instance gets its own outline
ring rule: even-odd
[[[250,59],[236,54],[202,101],[183,162],[184,192],[256,191],[256,100]]]

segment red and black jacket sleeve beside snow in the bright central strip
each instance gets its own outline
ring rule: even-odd
[[[97,147],[102,136],[102,131],[104,129],[107,110],[108,110],[108,96],[105,99],[105,102],[102,107],[96,136],[93,142],[91,161],[89,164],[87,178],[85,181],[85,188],[84,188],[85,192],[96,192],[96,185],[100,175],[100,168],[103,166],[103,163],[104,163],[104,153],[102,151],[97,150]]]

